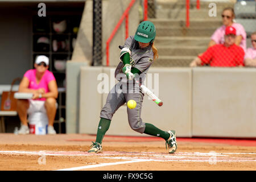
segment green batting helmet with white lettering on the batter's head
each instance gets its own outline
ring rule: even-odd
[[[150,21],[141,22],[137,28],[134,39],[142,43],[152,43],[155,40],[155,26]]]

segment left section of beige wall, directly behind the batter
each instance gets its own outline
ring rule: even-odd
[[[114,86],[114,69],[103,68],[105,78],[108,79],[108,92]],[[80,91],[80,133],[96,134],[100,110],[106,102],[108,92],[97,93],[97,86],[102,82],[97,80],[101,68],[81,68]],[[158,73],[154,75],[155,73]],[[150,86],[152,76],[152,86]],[[142,119],[152,123],[162,130],[174,129],[180,137],[191,137],[191,69],[180,68],[151,68],[148,72],[146,85],[156,89],[159,81],[159,98],[164,102],[162,107],[144,96]],[[112,82],[112,83],[111,83]],[[88,89],[90,88],[90,89]],[[88,102],[92,100],[93,102]],[[101,100],[100,100],[101,99]],[[128,124],[127,107],[121,106],[114,114],[109,135],[141,135],[136,133]]]

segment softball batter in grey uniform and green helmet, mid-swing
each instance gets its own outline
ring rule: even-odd
[[[110,90],[106,104],[100,113],[96,142],[88,152],[98,153],[102,151],[102,139],[108,131],[113,114],[120,106],[134,100],[137,106],[134,109],[127,107],[128,121],[131,129],[141,134],[153,135],[166,140],[166,147],[172,154],[177,149],[176,132],[174,130],[162,131],[150,123],[144,123],[141,119],[141,110],[144,93],[139,86],[142,84],[152,61],[158,57],[158,51],[154,47],[155,26],[152,22],[144,21],[139,24],[135,36],[126,39],[119,56],[120,63],[115,69],[115,78],[119,81]]]

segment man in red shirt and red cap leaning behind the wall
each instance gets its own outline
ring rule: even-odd
[[[209,47],[203,55],[196,57],[190,67],[209,64],[210,67],[243,67],[245,52],[235,44],[236,28],[226,27],[224,44],[216,44]]]

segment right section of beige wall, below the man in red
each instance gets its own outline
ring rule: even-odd
[[[256,69],[193,69],[193,136],[256,137]]]

